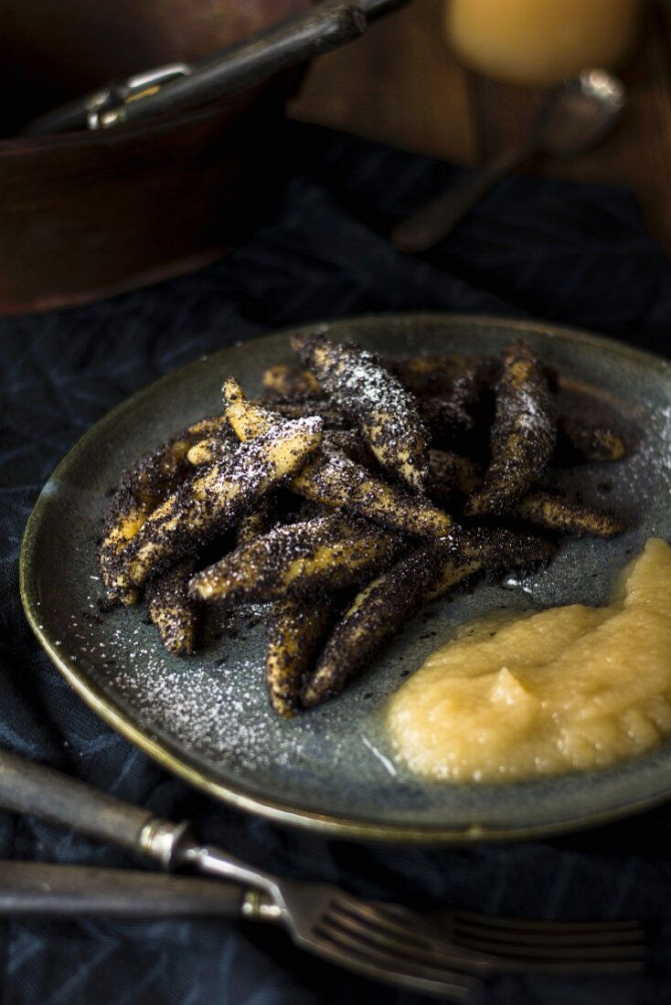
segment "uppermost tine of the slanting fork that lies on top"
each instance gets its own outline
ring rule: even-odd
[[[432,966],[452,966],[477,974],[487,974],[492,969],[488,961],[479,959],[474,953],[464,952],[454,944],[417,933],[411,933],[412,938],[407,939],[406,930],[387,926],[386,919],[379,919],[377,913],[365,903],[332,900],[327,918],[351,935],[408,960]]]

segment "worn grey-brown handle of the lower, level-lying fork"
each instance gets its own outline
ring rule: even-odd
[[[0,917],[239,918],[235,883],[42,862],[0,862]]]

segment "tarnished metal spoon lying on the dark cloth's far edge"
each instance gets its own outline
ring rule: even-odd
[[[556,90],[541,109],[528,136],[475,169],[460,184],[415,209],[391,230],[400,251],[427,251],[446,237],[482,198],[533,154],[573,157],[611,132],[626,103],[625,86],[602,69],[585,70]]]

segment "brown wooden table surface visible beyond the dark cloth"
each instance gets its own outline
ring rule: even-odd
[[[414,0],[318,60],[290,115],[457,164],[477,164],[513,141],[546,94],[469,75],[445,41],[442,2]],[[524,170],[633,188],[671,253],[668,9],[648,7],[637,49],[619,72],[629,104],[612,136],[580,157],[537,159]]]

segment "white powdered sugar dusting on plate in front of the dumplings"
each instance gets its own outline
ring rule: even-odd
[[[114,611],[104,622],[71,613],[63,634],[69,660],[132,709],[152,739],[177,741],[224,770],[277,781],[302,767],[317,770],[322,761],[341,763],[347,752],[324,717],[285,722],[271,710],[264,677],[268,611],[244,605],[206,651],[186,659],[163,648],[138,608]]]

